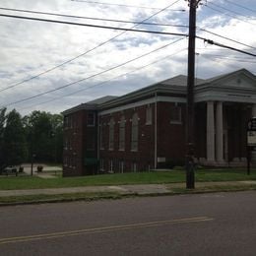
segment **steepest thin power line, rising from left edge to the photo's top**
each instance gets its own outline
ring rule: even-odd
[[[171,4],[167,5],[166,7],[160,9],[160,11],[158,11],[158,12],[152,14],[151,16],[149,16],[148,18],[142,20],[141,23],[144,23],[144,22],[149,21],[150,19],[152,19],[153,17],[159,15],[161,12],[163,12],[163,11],[165,11],[167,8],[170,8],[171,6],[175,5],[175,4],[176,4],[177,2],[179,2],[179,1],[180,1],[180,0],[176,0],[176,1],[172,2]],[[138,26],[138,25],[134,25],[134,26],[132,26],[130,29],[134,29],[134,28],[136,28],[137,26]],[[8,86],[7,88],[3,89],[3,90],[0,91],[0,92],[3,92],[3,91],[5,91],[5,90],[9,90],[9,89],[11,89],[11,88],[15,88],[15,87],[17,87],[17,86],[19,86],[19,85],[22,85],[22,84],[24,84],[24,83],[27,83],[27,82],[31,81],[32,79],[38,78],[38,77],[40,77],[40,76],[42,76],[42,75],[44,75],[44,74],[46,74],[46,73],[48,73],[48,72],[51,72],[51,71],[53,71],[53,70],[55,70],[55,69],[57,69],[57,68],[60,68],[60,67],[66,65],[66,64],[68,64],[68,63],[70,63],[70,62],[72,62],[72,61],[74,61],[74,60],[76,60],[76,59],[78,59],[78,58],[80,58],[80,57],[82,57],[82,56],[87,55],[88,53],[90,53],[90,52],[96,50],[97,48],[103,46],[104,44],[107,44],[108,42],[110,42],[110,41],[116,39],[117,37],[121,36],[121,35],[124,34],[124,33],[125,33],[125,32],[120,32],[120,33],[118,33],[118,34],[116,34],[116,35],[110,37],[109,39],[107,39],[107,40],[105,40],[105,41],[103,41],[103,42],[100,42],[100,43],[97,44],[95,47],[93,47],[93,48],[91,48],[91,49],[89,49],[89,50],[83,52],[82,54],[79,54],[79,55],[77,55],[76,57],[71,58],[71,59],[69,59],[69,60],[67,60],[67,61],[65,61],[65,62],[63,62],[63,63],[61,63],[61,64],[59,64],[59,65],[57,65],[57,66],[54,66],[54,67],[52,67],[52,68],[50,68],[50,69],[48,69],[48,70],[45,70],[45,71],[43,71],[43,72],[41,72],[41,73],[39,73],[39,74],[37,74],[37,75],[35,75],[35,76],[32,76],[32,77],[29,78],[29,79],[23,80],[23,81],[18,82],[18,83],[14,84],[14,85],[10,85],[10,86]]]

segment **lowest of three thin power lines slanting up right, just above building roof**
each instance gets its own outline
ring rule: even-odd
[[[108,79],[108,80],[105,80],[105,81],[103,81],[103,82],[100,82],[100,83],[98,83],[98,84],[96,84],[96,85],[93,85],[93,86],[91,86],[91,87],[84,88],[84,89],[80,89],[80,90],[78,90],[78,91],[75,91],[75,92],[73,92],[73,93],[69,93],[69,94],[64,95],[64,96],[57,96],[57,97],[51,98],[51,99],[46,100],[46,101],[43,101],[43,102],[39,102],[39,103],[36,102],[36,104],[32,104],[32,105],[30,105],[30,106],[22,107],[22,108],[19,108],[19,109],[20,109],[20,110],[23,110],[23,109],[27,109],[27,108],[32,108],[32,107],[35,106],[35,105],[46,104],[46,103],[52,102],[52,101],[54,101],[54,100],[63,98],[63,97],[65,97],[65,96],[73,96],[73,95],[76,95],[76,94],[85,92],[85,91],[87,91],[87,90],[90,90],[90,89],[93,89],[93,88],[102,86],[102,85],[104,85],[104,84],[109,83],[109,82],[112,81],[112,80],[116,80],[117,78],[121,78],[121,77],[123,77],[123,76],[129,75],[129,74],[131,74],[131,73],[135,73],[135,72],[137,72],[137,71],[139,71],[139,70],[142,70],[142,69],[145,69],[145,68],[147,68],[147,67],[149,67],[149,66],[151,66],[151,65],[154,65],[154,64],[156,64],[156,63],[158,63],[158,62],[160,62],[160,61],[162,61],[162,60],[164,60],[164,59],[167,59],[167,58],[169,58],[169,57],[172,57],[172,56],[174,56],[174,55],[176,55],[176,54],[178,54],[178,53],[180,53],[180,52],[182,52],[182,51],[184,51],[184,50],[186,50],[186,49],[187,49],[187,48],[183,48],[183,49],[181,49],[181,50],[179,50],[179,51],[176,51],[176,52],[173,53],[173,54],[167,55],[167,56],[165,56],[165,57],[163,57],[163,58],[160,58],[160,59],[158,59],[158,60],[156,60],[156,61],[153,61],[153,62],[151,62],[151,63],[149,63],[149,64],[147,64],[147,65],[141,66],[141,67],[136,68],[136,69],[134,69],[134,70],[132,70],[132,71],[128,71],[128,72],[123,73],[123,74],[121,74],[121,75],[118,75],[118,76],[116,76],[116,77],[110,78],[110,79]]]

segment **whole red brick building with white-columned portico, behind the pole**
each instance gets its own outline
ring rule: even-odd
[[[104,96],[64,114],[63,175],[147,171],[185,156],[186,76],[124,96]],[[256,77],[241,69],[195,86],[195,157],[246,162],[246,122],[256,116]]]

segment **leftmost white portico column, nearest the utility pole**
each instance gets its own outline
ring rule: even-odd
[[[214,101],[207,102],[207,161],[215,161],[215,107]]]

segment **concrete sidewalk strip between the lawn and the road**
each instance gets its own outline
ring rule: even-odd
[[[224,181],[224,182],[197,182],[196,189],[218,189],[218,188],[256,188],[256,180],[248,181]],[[29,196],[29,195],[60,195],[76,193],[111,193],[119,195],[164,195],[172,192],[172,189],[185,189],[184,183],[168,184],[140,184],[140,185],[118,185],[118,186],[84,186],[67,188],[44,188],[44,189],[21,189],[21,190],[0,190],[0,197]]]

